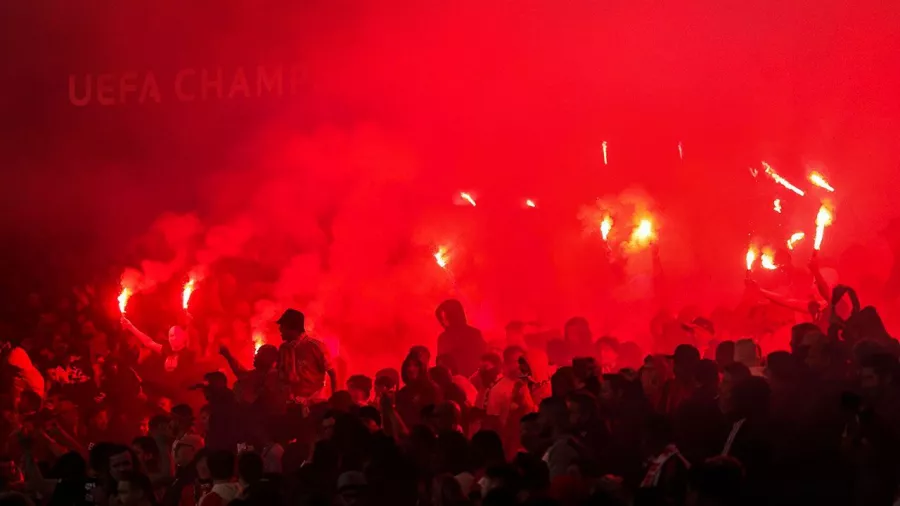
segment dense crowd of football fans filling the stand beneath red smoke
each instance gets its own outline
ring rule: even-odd
[[[893,504],[898,347],[846,292],[766,356],[700,315],[654,320],[671,355],[583,318],[498,345],[451,300],[436,348],[347,378],[293,309],[248,369],[35,296],[2,336],[0,504]]]

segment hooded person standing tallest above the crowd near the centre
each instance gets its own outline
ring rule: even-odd
[[[456,362],[459,374],[471,376],[481,365],[487,343],[481,331],[466,321],[466,313],[458,300],[445,300],[435,311],[444,331],[438,336],[438,355],[448,354]]]

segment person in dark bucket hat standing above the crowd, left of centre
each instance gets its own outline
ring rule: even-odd
[[[305,402],[322,393],[325,378],[331,391],[337,378],[331,356],[324,343],[306,333],[306,318],[296,309],[288,309],[276,322],[284,341],[278,350],[278,373],[295,401]]]

